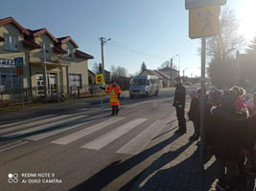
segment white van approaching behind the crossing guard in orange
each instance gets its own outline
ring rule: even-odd
[[[155,75],[135,76],[129,86],[129,96],[156,96],[159,92],[159,79]]]

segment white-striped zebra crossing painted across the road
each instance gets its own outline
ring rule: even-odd
[[[85,115],[62,115],[62,116],[47,116],[32,118],[31,121],[14,122],[8,124],[9,128],[0,129],[0,138],[22,138],[16,141],[0,146],[0,153],[11,150],[15,147],[39,141],[46,138],[51,138],[50,145],[68,145],[78,140],[81,140],[80,149],[101,150],[106,146],[110,146],[112,142],[125,135],[132,133],[132,130],[139,128],[138,133],[134,138],[125,142],[120,148],[115,151],[117,154],[137,155],[142,152],[151,139],[156,137],[160,132],[167,127],[164,119],[149,119],[149,118],[126,118],[126,117],[109,117],[97,118],[91,120]],[[145,122],[149,125],[144,125]],[[111,126],[110,131],[105,131],[105,128]],[[143,126],[143,128],[141,128]],[[1,126],[0,126],[1,127]],[[27,129],[24,129],[28,127]],[[59,127],[59,128],[58,128]],[[114,127],[114,128],[113,128]],[[51,129],[54,128],[54,129]],[[13,132],[13,130],[19,130]],[[61,134],[72,131],[71,134]],[[102,134],[101,132],[104,132]],[[58,138],[55,139],[55,136]],[[87,141],[87,137],[92,135]],[[98,135],[101,135],[100,137]],[[60,138],[59,138],[60,137]]]

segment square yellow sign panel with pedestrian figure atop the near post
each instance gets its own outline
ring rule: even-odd
[[[220,14],[219,5],[191,9],[189,11],[189,37],[201,38],[219,34]]]

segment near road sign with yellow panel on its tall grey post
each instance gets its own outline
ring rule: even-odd
[[[200,92],[200,172],[201,190],[205,190],[204,179],[204,149],[205,149],[205,60],[206,37],[220,33],[221,5],[226,0],[185,0],[186,10],[189,10],[189,37],[201,38],[201,92]]]

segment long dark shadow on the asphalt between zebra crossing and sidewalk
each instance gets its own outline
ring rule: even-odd
[[[88,180],[84,180],[81,184],[75,186],[74,188],[70,189],[70,191],[80,191],[80,190],[102,190],[105,188],[107,184],[111,181],[118,179],[120,176],[128,172],[130,169],[151,157],[151,155],[157,153],[158,151],[162,150],[167,145],[171,144],[175,141],[176,138],[179,138],[179,135],[174,135],[171,138],[167,138],[158,144],[152,146],[151,148],[139,153],[138,155],[131,157],[125,161],[115,161],[109,164],[105,169],[101,170],[97,174],[93,175]],[[142,173],[141,173],[142,174]],[[137,176],[138,178],[139,176]],[[135,181],[135,179],[128,182],[122,190],[128,190],[129,186]]]

